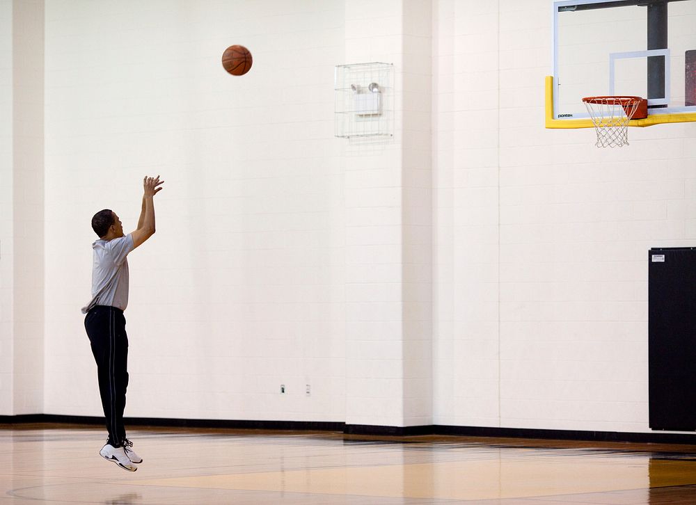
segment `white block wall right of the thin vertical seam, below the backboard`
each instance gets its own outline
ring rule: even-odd
[[[519,13],[509,4],[500,13],[501,424],[649,431],[647,250],[696,242],[696,124],[632,128],[620,150],[594,147],[592,129],[532,127],[550,57],[548,5]]]

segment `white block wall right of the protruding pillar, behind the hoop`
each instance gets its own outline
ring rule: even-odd
[[[544,130],[550,9],[436,3],[434,422],[649,431],[647,250],[696,241],[696,125]]]

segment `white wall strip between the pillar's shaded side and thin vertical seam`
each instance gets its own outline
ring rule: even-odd
[[[508,9],[505,19],[523,10]],[[501,227],[499,205],[500,15],[498,2],[438,0],[434,10],[433,424],[439,426],[500,426],[500,234],[510,229]],[[512,31],[508,54],[517,38]],[[507,262],[516,260],[515,246]]]

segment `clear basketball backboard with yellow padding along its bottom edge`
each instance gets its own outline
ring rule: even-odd
[[[647,98],[632,126],[695,121],[696,0],[554,1],[552,77],[547,127],[591,127],[597,95]]]

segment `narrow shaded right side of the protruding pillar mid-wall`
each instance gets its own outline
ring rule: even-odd
[[[402,300],[404,426],[433,424],[432,2],[404,1]]]

